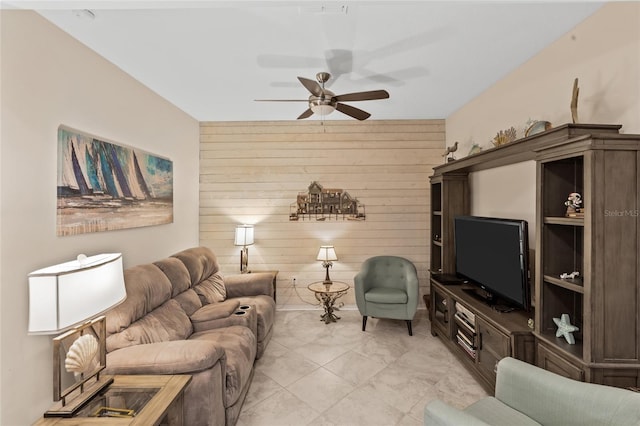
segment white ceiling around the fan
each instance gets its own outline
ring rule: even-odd
[[[593,1],[59,1],[45,18],[200,121],[292,120],[333,74],[372,119],[446,118],[593,14]],[[90,9],[95,17],[78,13]],[[72,10],[74,9],[74,10]],[[346,11],[346,13],[345,13]],[[351,119],[334,112],[330,119]],[[312,117],[311,120],[314,118]]]

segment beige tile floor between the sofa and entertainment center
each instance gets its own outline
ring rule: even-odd
[[[338,322],[320,310],[277,311],[274,334],[256,362],[238,426],[418,426],[434,398],[465,407],[486,395],[419,310],[404,321],[357,310]]]

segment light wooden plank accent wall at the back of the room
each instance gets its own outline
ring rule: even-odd
[[[249,269],[279,271],[279,309],[317,304],[307,285],[324,278],[316,256],[326,244],[339,258],[333,280],[353,286],[365,259],[397,255],[414,262],[428,293],[429,176],[444,148],[444,120],[202,122],[200,244],[224,274],[237,273],[235,226],[255,225]],[[357,198],[366,220],[290,221],[313,181]],[[355,307],[352,290],[341,300]]]

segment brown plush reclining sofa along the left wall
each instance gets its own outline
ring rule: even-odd
[[[273,275],[223,277],[195,247],[125,270],[107,318],[107,374],[190,374],[184,423],[234,425],[272,335]]]

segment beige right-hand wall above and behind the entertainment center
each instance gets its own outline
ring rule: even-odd
[[[459,157],[473,143],[491,147],[496,132],[529,119],[571,122],[569,104],[579,78],[583,123],[622,124],[640,133],[640,2],[608,3],[572,31],[447,117],[447,145]],[[472,213],[535,218],[533,162],[474,173]],[[515,203],[515,200],[518,200]],[[504,206],[504,208],[502,207]],[[530,240],[534,246],[534,240]]]

